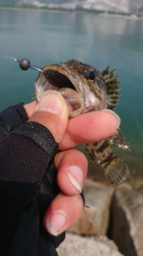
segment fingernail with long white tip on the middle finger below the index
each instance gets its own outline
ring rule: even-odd
[[[81,193],[81,185],[83,181],[83,174],[81,169],[77,166],[70,166],[66,170],[66,174],[68,175],[69,180],[73,186]]]

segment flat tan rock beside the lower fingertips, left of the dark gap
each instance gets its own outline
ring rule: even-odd
[[[80,219],[68,229],[77,234],[97,234],[104,236],[109,222],[109,211],[115,188],[86,179],[83,192],[85,207]]]

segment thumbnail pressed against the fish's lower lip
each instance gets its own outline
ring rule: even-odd
[[[59,115],[63,110],[64,98],[59,92],[46,91],[41,95],[38,104],[38,110],[45,110],[55,115]]]

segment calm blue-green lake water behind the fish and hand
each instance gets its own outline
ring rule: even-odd
[[[13,54],[14,51],[14,54]],[[28,58],[43,67],[76,58],[100,71],[110,65],[122,81],[116,113],[132,152],[115,150],[143,177],[143,20],[85,13],[0,9],[0,57]],[[0,111],[31,101],[38,76],[13,59],[0,59]]]

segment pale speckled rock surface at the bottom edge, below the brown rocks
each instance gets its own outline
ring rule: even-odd
[[[65,241],[56,250],[59,256],[123,256],[94,237],[80,237],[73,233],[67,233]]]

